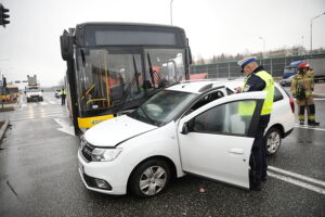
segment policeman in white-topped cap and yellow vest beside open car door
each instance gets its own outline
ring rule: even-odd
[[[266,141],[264,140],[264,131],[270,122],[274,98],[274,81],[272,76],[264,71],[263,66],[259,66],[256,58],[247,58],[238,61],[242,73],[246,76],[243,87],[237,88],[237,92],[249,91],[266,91],[266,97],[262,106],[258,129],[251,148],[249,159],[250,169],[250,189],[255,191],[261,190],[261,180],[266,180]],[[239,105],[239,114],[247,115],[251,110],[251,104]],[[251,114],[252,115],[252,114]]]

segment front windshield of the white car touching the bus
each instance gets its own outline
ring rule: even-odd
[[[143,103],[129,116],[161,126],[172,120],[196,97],[195,93],[162,90]]]

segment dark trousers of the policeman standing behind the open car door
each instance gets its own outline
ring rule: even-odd
[[[261,115],[256,137],[251,148],[251,154],[249,159],[250,165],[250,183],[259,184],[261,179],[266,177],[266,141],[264,140],[264,131],[270,122],[271,115]]]

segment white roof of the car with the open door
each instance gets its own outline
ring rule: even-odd
[[[202,93],[212,88],[227,87],[234,90],[237,87],[242,87],[244,82],[243,78],[237,79],[205,79],[205,80],[184,80],[178,85],[168,87],[167,90]]]

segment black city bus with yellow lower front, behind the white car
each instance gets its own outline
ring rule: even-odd
[[[76,132],[190,78],[191,50],[180,27],[82,23],[64,30],[60,39]]]

